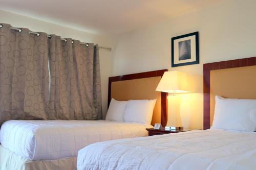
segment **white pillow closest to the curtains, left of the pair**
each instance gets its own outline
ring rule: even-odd
[[[112,98],[109,106],[109,110],[106,113],[106,120],[115,120],[117,122],[123,122],[124,109],[128,101],[116,101]]]

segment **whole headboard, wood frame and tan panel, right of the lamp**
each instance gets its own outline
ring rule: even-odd
[[[204,64],[204,129],[214,117],[215,95],[256,99],[256,57]]]

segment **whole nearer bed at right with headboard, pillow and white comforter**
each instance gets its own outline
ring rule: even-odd
[[[77,169],[255,169],[255,77],[256,57],[204,64],[207,130],[94,143]]]

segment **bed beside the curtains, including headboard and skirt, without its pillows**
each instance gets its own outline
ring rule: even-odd
[[[111,77],[109,104],[112,98],[156,99],[151,125],[165,125],[166,94],[155,91],[164,71]],[[111,120],[9,120],[0,130],[0,169],[76,169],[77,153],[83,147],[147,136],[145,129],[151,125]]]

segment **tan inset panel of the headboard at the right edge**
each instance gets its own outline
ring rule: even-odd
[[[214,117],[215,96],[256,99],[256,66],[210,71],[210,125]]]

